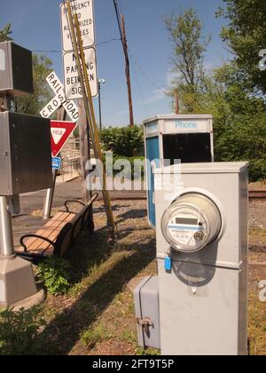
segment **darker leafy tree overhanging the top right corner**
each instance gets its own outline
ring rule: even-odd
[[[238,67],[238,79],[246,88],[266,94],[266,71],[258,68],[259,52],[266,48],[266,6],[263,0],[223,0],[225,9],[217,15],[229,20],[222,38],[229,46]]]

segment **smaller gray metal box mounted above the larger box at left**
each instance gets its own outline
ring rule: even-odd
[[[32,52],[12,42],[0,43],[0,91],[12,96],[33,92]]]

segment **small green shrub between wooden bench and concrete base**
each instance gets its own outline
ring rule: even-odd
[[[52,257],[38,266],[37,276],[51,295],[61,295],[70,288],[69,269],[65,259]]]

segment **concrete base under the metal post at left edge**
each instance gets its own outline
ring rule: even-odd
[[[16,256],[0,257],[0,307],[31,303],[36,294],[32,265]]]

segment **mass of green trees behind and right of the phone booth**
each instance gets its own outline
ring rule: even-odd
[[[261,0],[224,1],[227,8],[219,14],[230,22],[222,37],[234,54],[231,62],[212,72],[204,69],[207,41],[201,37],[197,14],[189,10],[168,19],[167,28],[176,45],[172,59],[176,78],[170,92],[178,90],[183,114],[214,116],[215,161],[248,161],[250,179],[266,179],[266,107],[262,95],[266,71],[258,67],[258,52],[266,47],[266,7]],[[191,56],[188,65],[184,60],[187,55]],[[195,74],[187,74],[191,71],[187,66]]]

